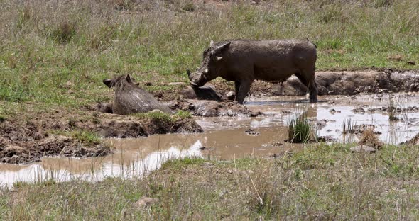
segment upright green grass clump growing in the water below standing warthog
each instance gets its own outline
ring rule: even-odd
[[[288,121],[288,142],[304,143],[312,138],[312,127],[307,120],[307,113]]]

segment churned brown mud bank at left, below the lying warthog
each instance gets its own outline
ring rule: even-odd
[[[98,157],[112,152],[99,137],[143,137],[202,132],[192,118],[70,113],[44,114],[0,123],[0,163],[24,164],[41,157]]]

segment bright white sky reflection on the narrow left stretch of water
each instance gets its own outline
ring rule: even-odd
[[[53,179],[55,181],[85,180],[99,181],[108,176],[131,178],[158,169],[163,162],[171,158],[201,157],[197,142],[190,149],[178,149],[170,147],[165,150],[150,152],[143,158],[136,158],[136,161],[124,161],[135,152],[125,152],[118,157],[118,154],[107,157],[89,159],[66,159],[58,157],[46,157],[40,164],[28,166],[0,164],[0,185],[12,186],[18,181],[42,182]],[[120,153],[123,153],[122,151]],[[114,159],[116,161],[114,161]],[[64,164],[61,164],[65,162]],[[121,163],[123,162],[123,163]],[[6,166],[4,166],[6,165]]]

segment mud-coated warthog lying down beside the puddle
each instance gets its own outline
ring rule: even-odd
[[[114,103],[99,106],[99,111],[127,115],[130,113],[146,113],[155,109],[165,113],[173,111],[147,91],[141,89],[128,75],[105,79],[106,86],[115,87]]]

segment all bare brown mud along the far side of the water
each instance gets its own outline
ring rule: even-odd
[[[354,95],[359,93],[389,93],[419,91],[419,75],[415,72],[398,72],[390,69],[354,72],[317,72],[319,95]],[[174,91],[157,91],[160,101],[168,102],[174,110],[190,111],[192,115],[204,117],[247,116],[263,113],[251,111],[246,106],[231,101],[232,82],[211,82],[219,101],[197,100],[181,84]],[[146,86],[143,86],[146,89]],[[298,96],[307,89],[296,77],[278,84],[255,81],[250,96]],[[195,98],[195,99],[194,99]],[[101,142],[82,142],[77,137],[63,132],[94,132],[101,137],[144,137],[173,132],[202,132],[192,118],[167,120],[160,118],[137,118],[133,115],[98,113],[95,106],[81,108],[80,114],[41,113],[34,117],[6,119],[0,122],[0,162],[21,164],[39,161],[43,156],[97,157],[111,153]],[[367,110],[367,111],[386,111]],[[64,133],[65,134],[65,133]],[[412,141],[413,142],[413,141]]]

